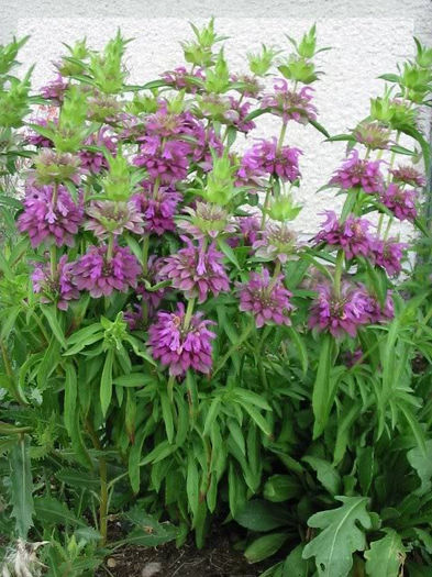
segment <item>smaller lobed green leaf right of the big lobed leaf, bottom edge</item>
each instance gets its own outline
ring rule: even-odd
[[[398,577],[405,562],[405,547],[400,535],[392,529],[385,530],[387,535],[370,543],[365,551],[366,575],[369,577]]]

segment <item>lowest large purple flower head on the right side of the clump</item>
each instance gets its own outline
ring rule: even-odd
[[[319,285],[312,304],[309,325],[319,332],[329,331],[333,336],[357,334],[358,326],[370,320],[370,300],[363,287],[342,282],[341,295],[332,285]]]

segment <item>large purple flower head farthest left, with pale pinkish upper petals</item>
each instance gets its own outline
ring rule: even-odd
[[[24,212],[18,219],[20,232],[26,232],[33,247],[42,243],[74,246],[74,237],[84,219],[81,203],[75,204],[68,190],[58,186],[30,185],[23,201]]]

